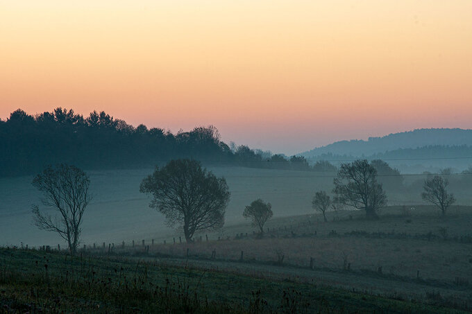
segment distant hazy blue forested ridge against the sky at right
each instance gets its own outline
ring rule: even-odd
[[[369,137],[367,141],[337,141],[327,146],[314,148],[300,155],[306,158],[321,155],[346,155],[353,157],[383,154],[387,151],[419,148],[425,146],[472,146],[472,130],[463,129],[418,129],[386,135]]]

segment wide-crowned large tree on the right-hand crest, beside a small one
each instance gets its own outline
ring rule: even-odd
[[[376,176],[376,168],[365,159],[342,164],[334,180],[335,201],[364,209],[367,218],[378,218],[378,210],[387,204],[387,195]]]

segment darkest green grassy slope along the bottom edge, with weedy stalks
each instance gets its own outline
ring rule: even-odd
[[[0,313],[462,313],[157,261],[0,249]]]

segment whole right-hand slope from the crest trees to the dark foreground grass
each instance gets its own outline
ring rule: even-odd
[[[88,245],[86,252],[470,308],[472,208],[453,207],[446,218],[432,206],[407,209],[387,207],[380,220],[366,220],[360,211],[329,213],[328,223],[315,214],[274,218],[262,238],[244,223],[197,234],[191,244],[167,237],[166,244],[160,238],[151,245],[146,238],[144,246],[127,241],[108,252],[108,245],[105,250]]]

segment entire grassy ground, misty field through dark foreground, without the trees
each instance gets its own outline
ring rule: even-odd
[[[386,184],[389,206],[379,220],[344,209],[328,212],[324,223],[311,200],[314,191],[330,191],[330,175],[211,170],[230,186],[226,224],[189,244],[139,192],[151,169],[90,171],[95,198],[85,214],[81,257],[74,258],[56,234],[31,224],[29,204],[40,200],[32,177],[1,178],[0,243],[8,247],[1,250],[2,304],[9,313],[31,306],[108,313],[472,309],[472,207],[459,181],[458,202],[445,218],[421,201],[418,175],[400,189]],[[273,204],[263,236],[242,217],[256,198]]]

